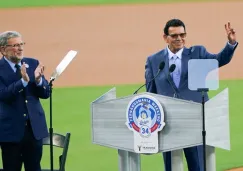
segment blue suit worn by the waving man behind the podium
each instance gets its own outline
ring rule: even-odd
[[[178,94],[181,99],[201,102],[201,94],[197,91],[191,91],[188,89],[188,61],[190,59],[217,59],[219,66],[221,67],[231,61],[236,46],[231,47],[227,43],[225,48],[218,54],[208,53],[203,46],[184,48],[182,52],[181,77],[178,88],[174,84],[172,77],[169,75],[168,50],[163,49],[147,58],[145,65],[145,78],[147,82],[146,89],[148,92],[170,97],[174,96],[175,90],[176,94]],[[148,81],[152,80],[158,72],[158,65],[161,61],[165,62],[164,70],[154,81],[148,84]],[[172,83],[174,90],[167,80],[167,76],[169,81]],[[208,95],[206,95],[205,100],[208,100]],[[187,159],[189,171],[203,171],[202,146],[186,148],[184,149],[184,153]],[[171,152],[163,153],[163,155],[166,171],[171,171]]]

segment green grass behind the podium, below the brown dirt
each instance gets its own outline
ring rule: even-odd
[[[139,85],[117,86],[117,96],[126,96],[133,93]],[[70,148],[67,158],[67,171],[108,171],[118,170],[117,151],[94,145],[91,142],[90,103],[107,92],[113,86],[104,87],[76,87],[55,88],[53,90],[53,127],[54,132],[65,134],[71,132]],[[221,81],[221,87],[210,96],[229,87],[230,96],[230,134],[231,151],[217,149],[217,171],[243,165],[243,80]],[[144,89],[141,90],[143,92]],[[42,101],[49,122],[49,100]],[[44,148],[42,166],[49,168],[49,148]],[[55,148],[55,158],[60,154]],[[1,163],[0,163],[1,166]],[[57,162],[55,162],[57,167]],[[163,160],[161,154],[142,156],[142,171],[162,171]]]

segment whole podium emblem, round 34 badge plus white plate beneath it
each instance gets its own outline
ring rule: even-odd
[[[165,126],[164,111],[160,102],[150,95],[133,98],[127,107],[126,125],[134,132],[134,151],[158,152],[158,131]]]

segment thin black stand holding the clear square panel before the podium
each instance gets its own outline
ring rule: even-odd
[[[203,114],[203,128],[202,128],[202,137],[203,137],[203,166],[204,171],[206,171],[206,129],[205,129],[205,93],[208,92],[208,88],[198,88],[198,92],[202,93],[202,114]]]

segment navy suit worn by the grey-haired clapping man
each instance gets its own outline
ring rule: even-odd
[[[19,170],[17,166],[24,161],[26,171],[37,171],[42,139],[48,136],[39,98],[49,97],[49,85],[44,76],[41,85],[35,82],[37,60],[23,58],[23,62],[29,66],[26,70],[30,81],[26,87],[6,59],[0,59],[0,145],[5,168]]]

